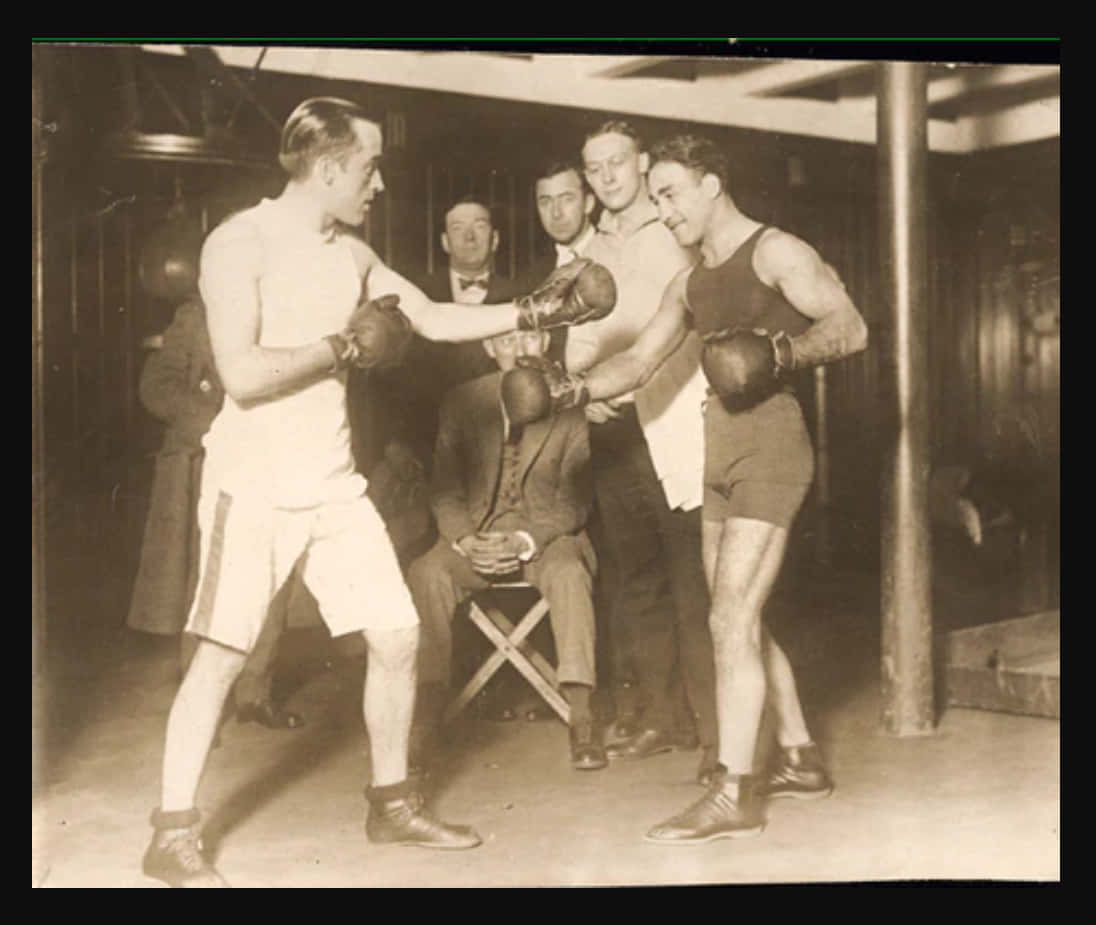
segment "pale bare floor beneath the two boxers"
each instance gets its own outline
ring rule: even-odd
[[[370,845],[358,704],[364,662],[296,630],[285,656],[297,731],[230,722],[199,792],[206,842],[236,887],[517,887],[1059,879],[1059,722],[943,711],[934,734],[879,729],[875,589],[812,594],[774,623],[837,783],[829,800],[778,801],[758,838],[646,844],[701,793],[698,753],[602,772],[568,764],[558,721],[454,727],[430,793],[473,824],[471,852]],[[800,598],[801,599],[801,598]],[[877,607],[876,607],[877,613]],[[172,640],[127,630],[70,638],[37,678],[32,883],[155,887],[140,856],[174,693]]]

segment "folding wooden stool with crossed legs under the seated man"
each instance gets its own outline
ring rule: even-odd
[[[509,661],[559,715],[559,718],[570,726],[571,708],[559,693],[556,670],[526,639],[548,615],[548,603],[538,596],[536,603],[525,612],[525,616],[515,626],[492,599],[492,591],[501,587],[533,587],[533,585],[524,581],[500,582],[486,591],[472,594],[468,602],[468,617],[491,641],[494,652],[488,655],[464,689],[446,707],[443,721],[453,720],[483,689],[491,676]]]

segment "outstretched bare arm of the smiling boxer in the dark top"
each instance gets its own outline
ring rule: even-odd
[[[638,389],[650,380],[670,354],[685,339],[685,279],[682,271],[670,281],[662,295],[659,310],[640,332],[636,342],[623,353],[592,366],[585,375],[590,399],[613,398]]]

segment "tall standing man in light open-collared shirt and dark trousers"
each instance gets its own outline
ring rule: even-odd
[[[695,260],[659,221],[647,191],[647,155],[631,126],[600,126],[586,136],[582,158],[604,207],[585,256],[613,273],[617,307],[569,333],[564,356],[572,373],[631,346],[666,284]],[[706,779],[717,727],[700,555],[706,382],[699,356],[699,343],[686,339],[642,389],[587,406],[586,418],[604,525],[598,556],[616,575],[607,594],[613,660],[620,667],[632,663],[644,701],[638,729],[610,746],[609,756],[643,758],[681,743],[670,696],[677,660],[704,746],[698,776]]]

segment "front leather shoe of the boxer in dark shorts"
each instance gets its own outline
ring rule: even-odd
[[[684,812],[655,825],[644,841],[655,845],[701,845],[718,838],[749,838],[765,827],[756,779],[728,774],[722,765],[708,792]]]

